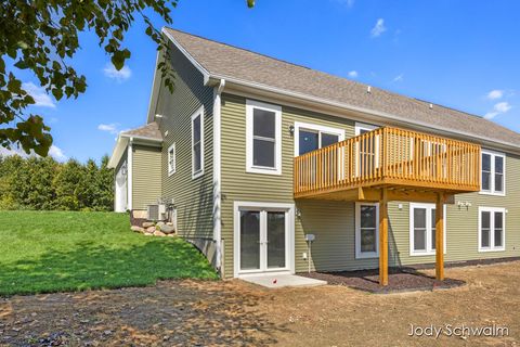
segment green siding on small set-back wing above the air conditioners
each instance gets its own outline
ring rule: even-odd
[[[160,147],[132,145],[132,209],[146,209],[160,197]]]

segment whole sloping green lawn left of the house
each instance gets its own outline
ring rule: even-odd
[[[0,295],[217,279],[206,258],[177,237],[130,231],[113,213],[0,211]]]

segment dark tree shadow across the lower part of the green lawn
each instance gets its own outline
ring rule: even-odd
[[[143,286],[186,278],[217,279],[217,274],[182,240],[150,239],[138,245],[80,242],[70,250],[49,249],[38,259],[1,265],[0,295]]]

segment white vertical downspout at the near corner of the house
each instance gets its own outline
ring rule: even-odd
[[[223,277],[222,267],[222,191],[221,191],[221,94],[225,80],[221,79],[213,89],[213,242],[214,266]]]

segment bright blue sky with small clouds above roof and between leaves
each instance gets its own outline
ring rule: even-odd
[[[180,0],[173,27],[429,102],[520,131],[520,1]],[[156,18],[157,26],[162,23]],[[109,154],[118,131],[146,121],[155,46],[142,23],[114,72],[91,34],[74,60],[88,78],[77,100],[40,94],[60,158]]]

